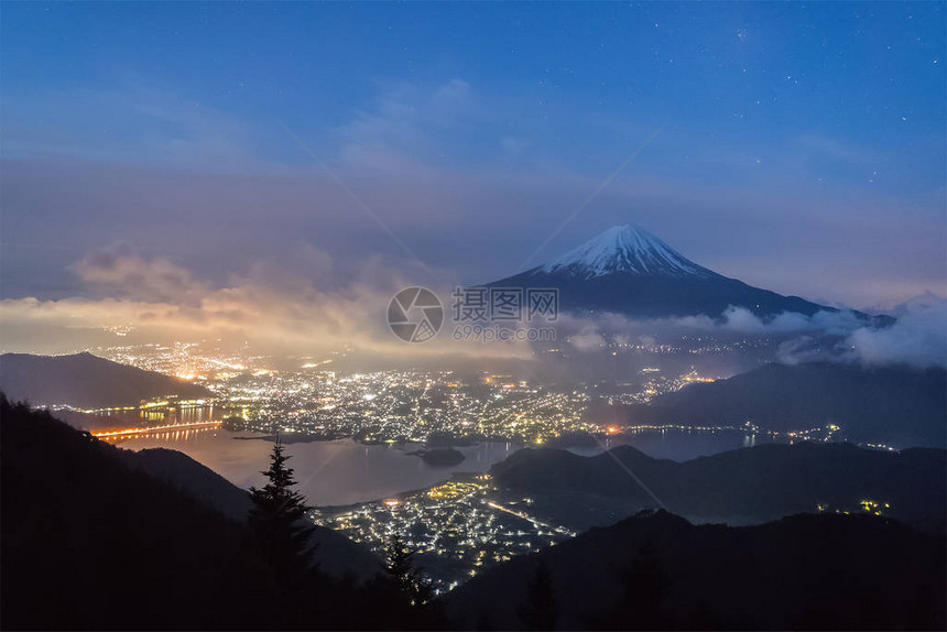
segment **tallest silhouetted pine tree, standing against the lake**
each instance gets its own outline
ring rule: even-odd
[[[279,585],[297,585],[311,570],[312,547],[309,537],[315,526],[308,522],[305,499],[294,490],[293,468],[286,467],[289,456],[283,454],[279,437],[270,455],[270,468],[261,472],[268,482],[262,489],[250,488],[253,506],[247,522],[257,545],[273,569]]]

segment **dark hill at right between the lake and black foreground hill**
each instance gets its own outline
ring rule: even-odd
[[[631,446],[595,457],[523,449],[491,469],[510,498],[531,498],[531,513],[574,529],[611,524],[641,509],[748,524],[819,505],[861,511],[862,501],[874,501],[877,511],[934,532],[947,526],[945,472],[943,449],[889,453],[815,443],[766,444],[684,462],[653,459]]]

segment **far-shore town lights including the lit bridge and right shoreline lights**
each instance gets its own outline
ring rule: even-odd
[[[710,338],[693,338],[687,342],[690,351],[703,348],[711,352],[718,347]],[[633,346],[634,350],[629,350],[630,347],[618,341],[610,348],[616,349],[612,353],[641,351],[638,346]],[[681,351],[674,348],[674,352]],[[462,445],[492,439],[557,447],[568,447],[569,442],[578,440],[595,446],[596,436],[608,438],[655,429],[739,432],[749,437],[748,445],[758,436],[790,443],[843,438],[842,429],[834,424],[779,433],[762,429],[752,421],[739,426],[616,424],[590,414],[592,404],[647,404],[688,384],[718,379],[700,374],[693,367],[675,373],[647,366],[633,380],[564,386],[487,371],[461,374],[446,370],[331,370],[334,358],[303,360],[295,369],[274,369],[265,357],[208,352],[202,345],[189,342],[110,347],[96,352],[208,390],[204,399],[164,397],[143,401],[139,406],[81,411],[116,417],[116,427],[96,433],[109,439],[156,429],[216,427],[228,418],[236,426],[225,425],[227,429],[268,434],[276,431],[283,436],[295,436],[296,440],[350,437],[368,444]],[[665,346],[647,347],[649,355],[664,352],[671,350]],[[55,403],[47,404],[56,407]],[[891,449],[880,444],[868,447]]]

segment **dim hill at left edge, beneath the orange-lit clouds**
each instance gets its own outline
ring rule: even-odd
[[[91,353],[74,356],[0,356],[0,391],[33,405],[66,404],[84,408],[132,406],[165,395],[209,397],[197,384],[154,371],[119,364]]]

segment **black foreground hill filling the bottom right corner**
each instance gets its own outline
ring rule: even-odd
[[[728,527],[657,512],[516,557],[445,610],[466,630],[943,630],[944,596],[944,538],[885,519]]]

